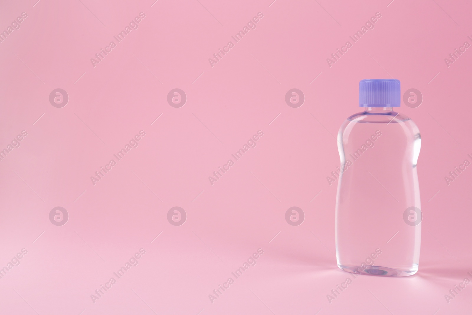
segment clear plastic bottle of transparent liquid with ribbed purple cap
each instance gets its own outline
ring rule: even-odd
[[[408,276],[418,271],[421,136],[400,107],[400,81],[359,83],[359,107],[337,135],[337,265],[346,272]]]

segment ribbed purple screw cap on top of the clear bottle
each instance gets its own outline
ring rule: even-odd
[[[361,80],[359,107],[400,107],[400,80]]]

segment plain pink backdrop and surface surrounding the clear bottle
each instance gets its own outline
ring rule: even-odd
[[[472,285],[444,297],[472,280],[472,169],[444,179],[472,162],[472,51],[449,68],[444,60],[472,43],[471,10],[445,0],[2,0],[1,31],[27,18],[0,43],[0,149],[28,135],[0,162],[0,267],[27,250],[0,279],[0,313],[471,314]],[[93,67],[140,12],[139,27]],[[211,67],[258,12],[257,27]],[[376,12],[374,29],[330,68]],[[359,111],[359,80],[390,77],[402,95],[424,98],[399,110],[422,136],[420,269],[361,276],[330,304],[348,276],[333,255],[333,136]],[[65,107],[49,102],[56,88]],[[181,108],[167,102],[174,88],[187,96]],[[299,108],[285,102],[292,88],[305,96]],[[140,130],[139,146],[94,186]],[[258,130],[256,147],[211,186]],[[69,214],[63,226],[49,220],[57,206]],[[187,214],[181,226],[167,220],[174,206]],[[299,226],[285,221],[292,206],[305,213]],[[140,248],[139,264],[93,303]],[[257,264],[211,303],[258,248]]]

